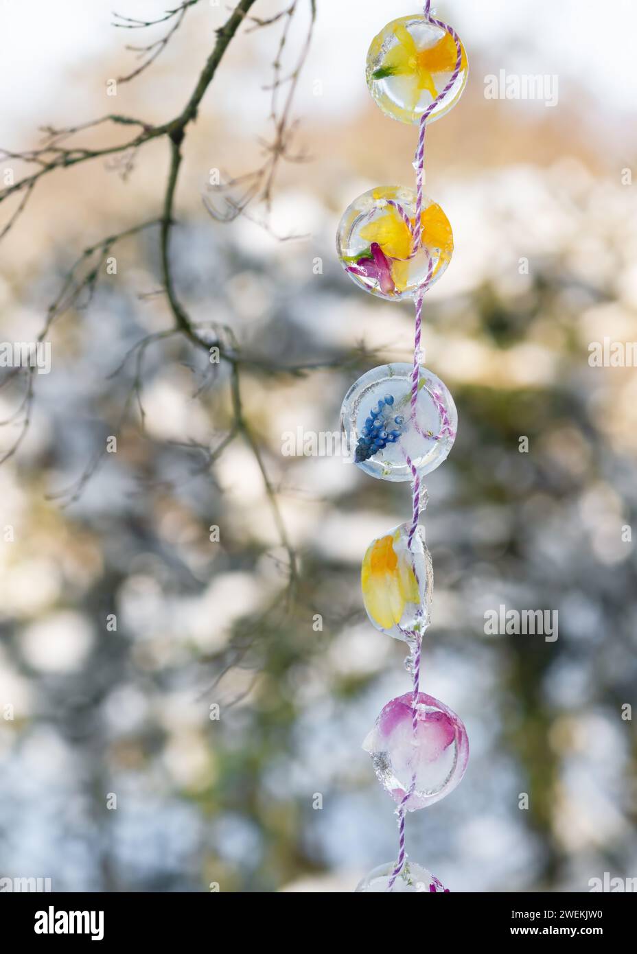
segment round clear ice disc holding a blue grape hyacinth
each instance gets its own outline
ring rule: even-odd
[[[340,408],[340,428],[361,470],[382,480],[410,481],[411,461],[420,477],[445,460],[456,437],[458,414],[432,371],[419,368],[412,405],[413,367],[381,364],[350,387]]]

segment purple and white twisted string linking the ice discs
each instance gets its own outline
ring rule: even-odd
[[[405,210],[401,207],[400,203],[395,202],[393,200],[390,200],[388,203],[389,205],[393,205],[399,211],[407,227],[412,232],[413,247],[412,247],[411,255],[409,256],[410,259],[413,259],[418,254],[422,246],[422,197],[423,197],[422,186],[423,186],[423,179],[424,179],[424,140],[425,140],[427,120],[429,116],[433,113],[433,111],[436,109],[436,107],[439,105],[439,103],[442,102],[442,99],[444,98],[444,96],[451,90],[451,88],[455,84],[456,80],[458,79],[458,76],[460,75],[461,64],[462,64],[462,46],[461,46],[458,33],[452,27],[448,26],[448,24],[442,23],[442,20],[434,19],[431,16],[430,8],[431,8],[431,0],[426,0],[424,4],[424,10],[423,10],[424,19],[428,21],[429,23],[432,23],[435,26],[440,27],[443,31],[449,33],[453,37],[456,43],[457,58],[456,58],[456,66],[454,68],[454,72],[451,74],[451,78],[449,79],[448,83],[442,90],[442,93],[440,93],[436,97],[436,99],[432,100],[432,102],[429,104],[425,112],[421,115],[421,127],[420,127],[420,133],[418,137],[418,146],[416,149],[416,160],[415,160],[416,162],[416,210],[415,210],[416,216],[415,216],[413,225],[412,225],[411,219],[409,218]],[[426,254],[429,259],[427,277],[422,282],[421,286],[419,287],[416,293],[414,370],[412,372],[412,379],[411,379],[411,418],[417,430],[419,431],[419,433],[421,433],[421,428],[418,425],[418,422],[416,420],[416,407],[418,404],[418,385],[419,385],[420,373],[421,373],[422,301],[424,299],[424,294],[427,291],[433,276],[433,261],[429,253],[426,252]],[[452,433],[452,431],[451,431],[451,425],[448,419],[448,415],[446,413],[446,408],[444,407],[444,404],[442,402],[442,398],[440,397],[440,395],[434,394],[434,401],[435,401],[435,404],[438,406],[439,411],[441,412],[442,430],[441,430],[441,435],[439,435],[439,438],[437,438],[437,439],[440,439],[440,436],[442,436],[442,434],[450,434]],[[406,454],[405,454],[405,458],[406,458],[407,466],[411,470],[411,475],[412,475],[412,504],[413,504],[412,523],[411,523],[411,527],[409,528],[407,546],[409,550],[412,550],[413,552],[412,545],[414,541],[414,536],[416,535],[416,530],[418,529],[418,523],[419,523],[419,519],[421,515],[421,479],[418,473],[418,469],[415,467],[411,458]],[[414,566],[414,570],[415,569],[416,568]],[[418,583],[418,574],[416,575],[416,580]],[[420,592],[420,584],[419,584],[419,592]],[[414,757],[415,757],[417,754],[416,746],[417,746],[417,734],[418,734],[418,698],[420,694],[420,684],[421,684],[422,633],[417,633],[414,631],[413,633],[409,633],[409,635],[413,637],[411,642],[412,659],[413,659],[413,694],[412,694],[411,705],[412,705],[412,732],[413,732],[413,740],[414,740]],[[399,819],[399,854],[396,860],[396,864],[394,865],[391,876],[389,878],[389,881],[387,883],[386,891],[392,890],[392,888],[394,887],[394,882],[399,877],[399,875],[401,874],[402,868],[404,867],[404,862],[406,859],[406,851],[405,851],[405,827],[406,827],[405,817],[406,817],[406,811],[407,811],[406,805],[409,799],[414,794],[415,789],[416,789],[416,770],[414,769],[412,771],[412,778],[411,778],[411,784],[409,786],[409,789],[408,791],[405,792],[405,794],[401,798],[401,803],[397,809],[397,815]]]

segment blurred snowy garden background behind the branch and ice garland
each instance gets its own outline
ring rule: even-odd
[[[263,0],[258,14],[280,6]],[[183,108],[223,3],[201,0],[115,101],[107,81],[134,54],[112,7],[0,3],[0,146],[29,148],[39,126],[113,108],[150,122]],[[263,365],[336,363],[242,373],[298,552],[287,610],[287,554],[249,448],[237,439],[208,468],[188,447],[216,446],[230,417],[227,370],[211,378],[186,342],[148,350],[145,430],[133,417],[69,506],[48,499],[113,433],[133,373],[113,369],[171,324],[149,295],[156,234],[118,246],[116,276],[51,332],[51,375],[37,377],[28,436],[0,468],[0,528],[12,528],[0,542],[2,877],[50,877],[55,890],[351,891],[395,857],[394,806],[360,744],[409,678],[402,645],[364,617],[359,573],[369,542],[409,513],[408,490],[338,457],[284,457],[281,435],[336,430],[356,377],[409,360],[410,308],[363,295],[334,236],[360,193],[413,181],[416,131],[373,105],[364,57],[384,23],[416,9],[318,0],[295,107],[311,159],[282,168],[272,211],[277,234],[306,238],[218,224],[201,203],[210,169],[259,161],[276,26],[237,35],[184,145],[175,273],[195,321],[230,325]],[[426,363],[460,429],[428,480],[436,588],[422,681],[462,716],[471,759],[453,795],[409,817],[408,851],[452,891],[586,891],[605,871],[637,876],[637,740],[622,718],[637,685],[637,371],[588,363],[590,342],[637,341],[637,98],[618,52],[637,8],[449,0],[438,14],[462,36],[470,77],[427,139],[426,190],[456,247],[425,302]],[[300,17],[291,52],[305,27]],[[557,75],[558,104],[486,99],[484,77],[501,70]],[[161,141],[126,181],[98,161],[42,182],[1,246],[3,341],[37,335],[86,245],[157,215],[167,158]],[[380,360],[339,362],[360,342]],[[15,383],[0,390],[3,420],[19,399]],[[0,428],[0,446],[16,426]],[[559,611],[558,640],[485,635],[484,612],[501,604]]]

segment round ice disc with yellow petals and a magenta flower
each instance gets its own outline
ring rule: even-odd
[[[340,264],[360,288],[389,301],[412,298],[438,280],[453,253],[449,219],[422,197],[421,244],[416,248],[416,193],[380,186],[345,210],[337,234]]]

